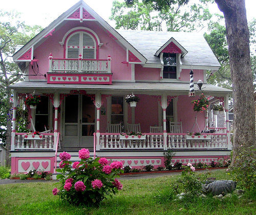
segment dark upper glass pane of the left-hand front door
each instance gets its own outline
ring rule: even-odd
[[[76,123],[78,120],[78,95],[66,97],[65,122]]]

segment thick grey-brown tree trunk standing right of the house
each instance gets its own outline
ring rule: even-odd
[[[253,77],[245,0],[215,0],[215,2],[224,13],[227,30],[234,102],[232,165],[240,165],[235,162],[239,148],[242,145],[245,149],[250,146],[255,147]]]

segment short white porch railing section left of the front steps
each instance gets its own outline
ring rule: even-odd
[[[37,136],[28,133],[15,133],[14,149],[53,150],[53,142],[53,133],[45,133]]]

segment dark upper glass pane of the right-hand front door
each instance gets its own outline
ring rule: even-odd
[[[95,105],[90,97],[82,96],[82,122],[95,122]]]

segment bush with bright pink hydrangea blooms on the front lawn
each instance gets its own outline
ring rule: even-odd
[[[61,173],[57,175],[60,186],[52,190],[54,196],[74,205],[95,205],[122,189],[123,185],[116,179],[123,173],[121,162],[93,159],[85,148],[78,155],[81,161],[72,164],[68,153],[60,154],[61,166],[56,170]]]

